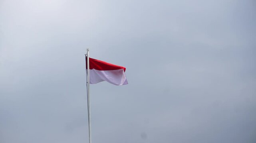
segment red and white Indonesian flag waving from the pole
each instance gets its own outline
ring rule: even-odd
[[[126,68],[122,66],[89,58],[90,83],[95,84],[101,81],[107,81],[113,85],[126,85],[128,82],[125,76],[125,69]]]

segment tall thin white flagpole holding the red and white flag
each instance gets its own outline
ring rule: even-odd
[[[90,110],[90,96],[89,96],[89,89],[90,89],[90,68],[89,68],[89,48],[87,50],[87,70],[86,70],[86,87],[87,87],[87,110],[88,110],[88,127],[89,127],[89,143],[91,143],[91,110]]]

